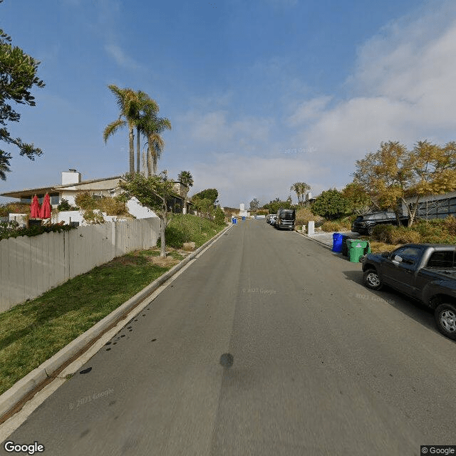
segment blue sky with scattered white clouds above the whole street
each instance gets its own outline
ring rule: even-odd
[[[0,27],[46,87],[9,125],[44,155],[6,148],[0,193],[127,172],[127,131],[103,142],[111,83],[170,119],[159,170],[231,207],[342,188],[381,141],[456,140],[454,1],[211,1],[4,0]]]

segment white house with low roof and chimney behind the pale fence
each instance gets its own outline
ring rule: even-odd
[[[119,182],[123,180],[122,176],[105,177],[103,179],[82,180],[81,172],[68,170],[62,172],[61,184],[49,185],[48,187],[31,188],[24,190],[14,190],[12,192],[2,193],[1,196],[19,198],[20,202],[31,204],[33,195],[37,195],[38,202],[43,202],[46,193],[51,197],[51,206],[56,208],[62,199],[66,199],[72,206],[76,205],[75,198],[78,193],[88,192],[95,197],[115,197],[121,192]],[[182,197],[185,186],[181,182],[174,182],[175,194],[172,196],[170,209],[174,212],[187,213],[190,202]],[[130,199],[127,202],[128,211],[138,219],[157,217],[155,212],[142,206],[138,199]],[[79,221],[81,217],[77,216],[78,211],[60,212],[58,222],[68,220]],[[115,217],[105,217],[106,221]],[[68,219],[68,220],[67,220]]]

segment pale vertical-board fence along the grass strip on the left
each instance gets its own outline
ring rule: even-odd
[[[78,227],[0,241],[0,313],[95,266],[157,245],[160,219]]]

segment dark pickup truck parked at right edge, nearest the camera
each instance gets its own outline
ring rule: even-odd
[[[393,252],[368,254],[363,273],[368,288],[389,285],[434,309],[439,331],[456,340],[455,245],[405,244]]]

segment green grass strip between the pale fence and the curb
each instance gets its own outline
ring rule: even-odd
[[[184,257],[131,252],[0,314],[0,394],[128,301]]]

